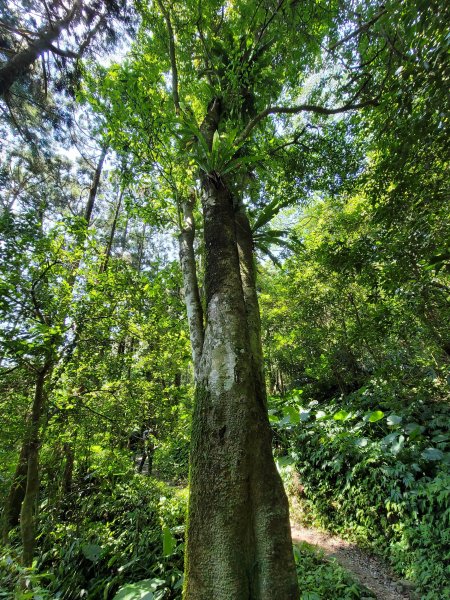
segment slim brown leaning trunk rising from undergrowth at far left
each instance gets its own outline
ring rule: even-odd
[[[47,363],[38,372],[34,393],[33,407],[31,410],[30,427],[28,430],[28,470],[25,496],[20,511],[20,531],[22,535],[22,563],[31,567],[35,544],[35,509],[39,494],[39,428],[41,416],[45,405],[45,384],[51,365]]]

